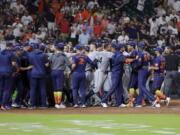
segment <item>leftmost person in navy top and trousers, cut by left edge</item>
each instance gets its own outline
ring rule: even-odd
[[[0,109],[8,110],[8,101],[11,89],[11,75],[13,67],[16,67],[16,60],[14,58],[13,43],[8,42],[6,49],[0,52]]]

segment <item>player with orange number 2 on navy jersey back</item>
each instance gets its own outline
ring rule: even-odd
[[[80,90],[81,107],[86,107],[86,91],[85,91],[85,68],[86,64],[89,63],[92,67],[94,63],[90,58],[82,53],[83,47],[81,45],[76,46],[77,54],[72,57],[72,87],[73,87],[73,101],[74,107],[78,105],[78,90]]]

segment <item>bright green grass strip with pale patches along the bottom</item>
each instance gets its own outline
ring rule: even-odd
[[[0,135],[180,135],[180,115],[0,114]]]

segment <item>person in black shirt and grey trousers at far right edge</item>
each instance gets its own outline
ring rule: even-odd
[[[172,93],[174,86],[175,89],[178,90],[179,86],[179,79],[180,73],[178,72],[178,67],[180,65],[180,56],[175,53],[175,47],[170,46],[168,47],[168,54],[165,56],[166,60],[166,76],[164,79],[164,94],[170,96]]]

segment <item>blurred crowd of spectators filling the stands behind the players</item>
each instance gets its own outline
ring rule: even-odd
[[[148,10],[148,11],[147,11]],[[1,0],[0,47],[7,41],[48,46],[101,39],[180,46],[179,0]]]

